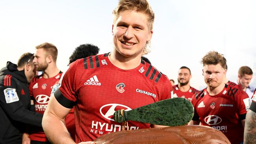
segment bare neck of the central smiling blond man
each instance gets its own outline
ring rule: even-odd
[[[108,55],[109,61],[123,70],[131,70],[141,63],[141,55],[135,57],[124,57],[119,52],[113,51]]]

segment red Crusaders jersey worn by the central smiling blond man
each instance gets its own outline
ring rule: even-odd
[[[108,54],[71,63],[59,85],[60,96],[54,93],[58,102],[63,106],[76,102],[76,142],[121,131],[122,124],[112,118],[115,111],[171,98],[172,91],[167,76],[150,64],[141,60],[136,68],[122,70],[109,61]],[[149,127],[150,124],[129,121],[129,129]]]

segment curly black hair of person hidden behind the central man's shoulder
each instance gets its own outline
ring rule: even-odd
[[[72,55],[69,57],[69,64],[73,63],[77,59],[82,59],[91,55],[97,55],[99,51],[100,49],[98,48],[98,46],[95,46],[93,44],[81,44],[74,50]]]

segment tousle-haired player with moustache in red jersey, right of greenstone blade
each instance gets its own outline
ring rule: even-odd
[[[222,131],[232,144],[240,144],[243,142],[249,97],[243,90],[223,82],[226,59],[222,54],[211,51],[202,58],[201,63],[207,88],[192,97],[195,114],[189,125],[201,123],[213,127]]]

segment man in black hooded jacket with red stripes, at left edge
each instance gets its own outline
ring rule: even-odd
[[[43,115],[34,112],[28,83],[35,76],[33,54],[25,53],[18,64],[7,62],[0,70],[0,144],[21,144],[26,124],[42,126]]]

